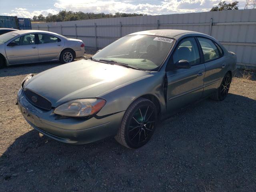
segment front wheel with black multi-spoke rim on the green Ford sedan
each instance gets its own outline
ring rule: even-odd
[[[138,98],[126,110],[115,139],[127,148],[140,148],[153,135],[156,120],[157,110],[154,103]]]

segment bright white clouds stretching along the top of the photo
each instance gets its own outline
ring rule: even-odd
[[[226,0],[227,3],[234,0]],[[239,1],[239,8],[244,8],[246,0]],[[29,11],[26,8],[15,8],[5,15],[29,17],[49,13],[56,14],[59,10],[94,12],[94,13],[142,13],[149,15],[204,12],[218,5],[220,0],[56,0],[51,8]]]

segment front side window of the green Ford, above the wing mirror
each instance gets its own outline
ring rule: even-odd
[[[179,60],[187,60],[192,66],[200,64],[198,46],[194,38],[186,38],[180,42],[173,54],[173,63]]]

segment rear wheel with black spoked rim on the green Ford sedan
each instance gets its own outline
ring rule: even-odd
[[[230,73],[229,72],[226,73],[226,75],[222,79],[220,87],[210,98],[215,101],[224,100],[226,98],[226,96],[228,95],[228,90],[230,88],[231,80],[232,80],[232,77],[231,77]]]

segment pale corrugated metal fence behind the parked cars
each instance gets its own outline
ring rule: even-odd
[[[192,30],[213,36],[235,52],[238,67],[256,68],[256,9],[41,23],[32,29],[78,38],[96,49],[143,30]]]

